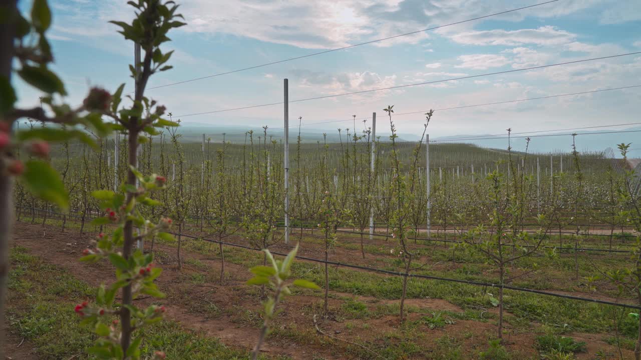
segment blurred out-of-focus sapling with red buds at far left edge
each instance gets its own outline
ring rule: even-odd
[[[0,14],[0,318],[4,318],[15,179],[18,178],[21,183],[19,189],[24,186],[34,195],[32,218],[35,217],[35,198],[54,203],[66,212],[69,194],[58,173],[44,161],[48,155],[48,143],[65,142],[73,138],[95,145],[83,128],[93,129],[104,136],[110,132],[110,127],[103,124],[97,109],[100,106],[91,106],[93,102],[72,108],[58,101],[67,95],[67,91],[62,80],[49,69],[53,54],[46,37],[51,27],[51,10],[47,1],[33,1],[27,19],[19,11],[16,0],[3,0],[0,1]],[[39,106],[16,107],[18,99],[12,85],[13,74],[44,94],[40,97]],[[99,93],[94,88],[89,97]],[[14,124],[19,124],[19,120],[24,118],[29,122],[37,120],[51,126],[27,127],[13,133]],[[26,163],[18,157],[21,149],[30,157]],[[4,339],[4,327],[1,327],[2,359]]]

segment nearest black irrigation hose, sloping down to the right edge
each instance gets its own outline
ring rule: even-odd
[[[179,234],[179,233],[171,233],[174,235],[180,235],[180,236],[185,236],[186,238],[192,238],[192,239],[200,239],[203,241],[207,241],[210,243],[219,243],[222,245],[228,245],[231,247],[239,247],[242,249],[247,249],[247,250],[254,250],[254,251],[262,251],[260,249],[256,249],[253,247],[249,247],[246,245],[240,245],[236,243],[228,243],[226,241],[218,241],[218,240],[212,240],[212,239],[206,239],[206,238],[199,238],[197,236],[191,236],[187,234]],[[281,253],[281,252],[272,252],[272,254],[279,255],[279,256],[287,256],[287,254]],[[431,275],[420,275],[420,274],[404,274],[402,272],[395,272],[391,270],[383,270],[379,268],[368,268],[366,266],[360,266],[360,265],[352,265],[348,263],[338,263],[336,261],[325,261],[322,259],[315,259],[315,258],[308,258],[306,256],[296,256],[297,259],[301,260],[306,260],[306,261],[313,261],[315,263],[322,263],[322,264],[328,264],[328,265],[336,265],[336,266],[344,266],[346,268],[354,268],[354,269],[360,269],[360,270],[365,270],[369,272],[378,272],[381,274],[387,274],[387,275],[394,275],[394,276],[401,276],[401,277],[414,277],[417,279],[428,279],[428,280],[438,280],[438,281],[449,281],[449,282],[458,282],[460,284],[469,284],[469,285],[476,285],[476,286],[487,286],[491,288],[504,288],[508,290],[514,290],[514,291],[522,291],[526,293],[536,293],[539,295],[547,295],[547,296],[552,296],[552,297],[560,297],[562,299],[571,299],[571,300],[579,300],[579,301],[584,301],[584,302],[594,302],[597,304],[605,304],[605,305],[612,305],[612,306],[619,306],[619,307],[628,307],[630,309],[638,309],[641,310],[641,306],[638,305],[633,305],[633,304],[622,304],[619,302],[612,302],[612,301],[607,301],[607,300],[599,300],[599,299],[590,299],[587,297],[578,297],[578,296],[573,296],[573,295],[565,295],[565,294],[558,294],[558,293],[551,293],[549,291],[542,291],[542,290],[534,290],[534,289],[528,289],[528,288],[519,288],[517,286],[510,286],[510,285],[499,285],[499,284],[492,284],[490,282],[480,282],[480,281],[471,281],[471,280],[461,280],[461,279],[450,279],[448,277],[438,277],[438,276],[431,276]]]

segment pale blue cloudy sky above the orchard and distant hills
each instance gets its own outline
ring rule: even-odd
[[[271,61],[344,47],[432,26],[535,4],[508,0],[187,0],[188,26],[171,34],[174,69],[149,86],[208,76]],[[541,2],[541,1],[538,1]],[[78,103],[89,86],[128,83],[133,44],[108,20],[128,20],[126,1],[52,0],[55,69]],[[28,1],[22,6],[28,7]],[[311,56],[259,69],[149,90],[174,115],[282,100],[357,92],[522,69],[563,61],[641,51],[641,1],[560,0],[556,3]],[[394,104],[397,113],[483,102],[641,85],[641,54],[547,69],[410,86],[296,102],[290,119],[335,131],[352,115],[369,117]],[[21,102],[38,94],[21,87]],[[432,136],[535,131],[641,121],[641,88],[514,104],[437,111]],[[184,122],[282,126],[282,106],[181,117]],[[403,133],[420,131],[424,117],[396,117]],[[296,120],[297,121],[297,120]],[[380,121],[380,119],[379,119]],[[362,126],[362,124],[360,125]],[[380,128],[383,124],[379,124]],[[387,126],[387,125],[386,125]]]

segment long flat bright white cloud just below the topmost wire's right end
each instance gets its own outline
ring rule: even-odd
[[[542,26],[538,29],[519,30],[484,30],[457,33],[451,39],[468,45],[559,45],[576,38],[575,34],[559,30],[554,26]]]

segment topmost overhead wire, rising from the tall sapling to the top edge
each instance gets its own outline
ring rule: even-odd
[[[208,76],[201,76],[200,78],[177,81],[176,83],[171,83],[171,84],[166,84],[166,85],[153,86],[151,88],[147,88],[147,90],[152,90],[152,89],[157,89],[157,88],[165,88],[167,86],[174,86],[174,85],[179,85],[179,84],[184,84],[184,83],[191,83],[192,81],[215,78],[217,76],[233,74],[235,72],[241,72],[241,71],[245,71],[245,70],[258,69],[260,67],[266,67],[266,66],[269,66],[269,65],[275,65],[275,64],[278,64],[278,63],[285,63],[287,61],[299,60],[299,59],[303,59],[303,58],[309,58],[310,56],[333,53],[334,51],[351,49],[353,47],[357,47],[357,46],[361,46],[361,45],[374,44],[376,42],[390,40],[390,39],[393,39],[393,38],[406,37],[408,35],[414,35],[414,34],[417,34],[417,33],[423,33],[425,31],[431,31],[431,30],[435,30],[435,29],[446,28],[447,26],[453,26],[453,25],[463,24],[465,22],[470,22],[470,21],[475,21],[475,20],[480,20],[480,19],[486,19],[488,17],[493,17],[493,16],[497,16],[497,15],[503,15],[505,13],[517,12],[519,10],[524,10],[524,9],[528,9],[528,8],[534,8],[536,6],[541,6],[541,5],[545,5],[545,4],[549,4],[549,3],[556,3],[556,1],[560,1],[560,0],[545,1],[544,3],[532,4],[532,5],[528,5],[528,6],[523,6],[521,8],[515,8],[515,9],[512,9],[512,10],[506,10],[506,11],[503,11],[503,12],[497,12],[497,13],[491,13],[491,14],[483,15],[483,16],[479,16],[479,17],[473,17],[472,19],[451,22],[449,24],[434,26],[432,28],[421,29],[421,30],[417,30],[417,31],[412,31],[410,33],[394,35],[394,36],[391,36],[391,37],[379,38],[379,39],[376,39],[376,40],[370,40],[370,41],[367,41],[367,42],[362,42],[360,44],[347,45],[347,46],[344,46],[344,47],[337,47],[336,49],[329,49],[329,50],[319,51],[318,53],[306,54],[306,55],[303,55],[303,56],[295,56],[293,58],[287,58],[287,59],[283,59],[283,60],[272,61],[271,63],[263,63],[263,64],[260,64],[260,65],[254,65],[254,66],[250,66],[250,67],[245,67],[245,68],[242,68],[242,69],[231,70],[231,71],[226,71],[226,72],[219,72],[218,74],[212,74],[212,75],[208,75]]]

